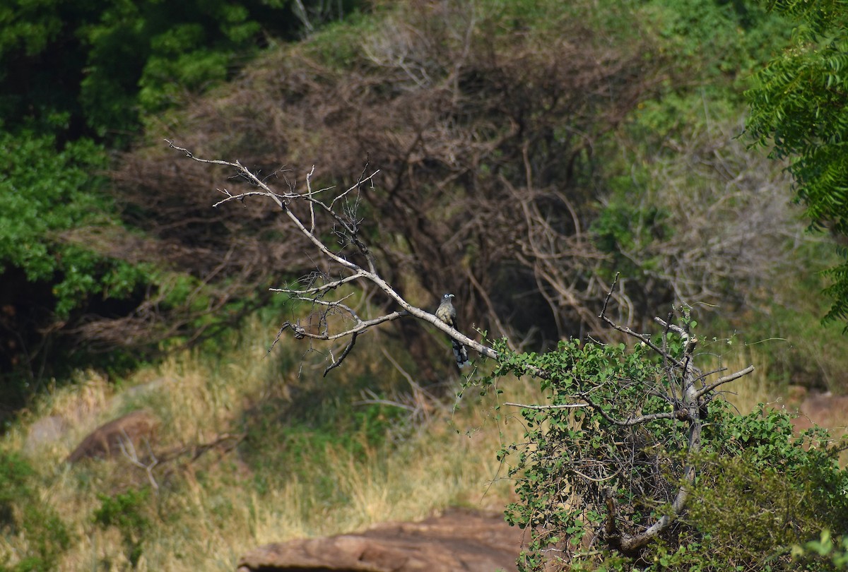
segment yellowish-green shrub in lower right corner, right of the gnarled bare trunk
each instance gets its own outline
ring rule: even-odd
[[[823,528],[848,530],[848,472],[824,430],[795,435],[787,414],[762,406],[748,415],[726,407],[711,414],[713,452],[700,459],[683,518],[688,538],[711,542],[690,549],[690,558],[706,558],[712,569],[794,570],[790,547]],[[809,569],[828,569],[821,565]]]

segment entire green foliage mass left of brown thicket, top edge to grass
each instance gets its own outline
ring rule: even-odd
[[[261,49],[356,5],[0,6],[0,418],[53,376],[90,365],[119,372],[159,342],[196,340],[255,307],[230,303],[210,317],[223,303],[205,287],[208,272],[192,276],[178,254],[144,248],[148,237],[131,230],[133,217],[110,192],[114,151]]]

